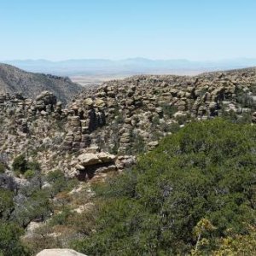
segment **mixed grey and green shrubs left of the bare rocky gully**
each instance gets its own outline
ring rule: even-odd
[[[76,184],[67,180],[59,170],[44,175],[38,162],[27,161],[23,155],[18,156],[14,163],[14,171],[23,170],[23,173],[30,172],[32,175],[26,177],[24,174],[27,180],[20,186],[13,177],[0,174],[3,183],[3,188],[0,188],[0,256],[32,255],[47,247],[45,243],[42,247],[34,246],[35,241],[30,244],[20,237],[32,221],[44,222],[50,218],[59,207],[59,202],[53,201],[53,198],[63,191],[70,191]]]

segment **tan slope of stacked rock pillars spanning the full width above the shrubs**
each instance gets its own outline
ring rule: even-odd
[[[48,91],[36,98],[0,96],[0,153],[20,153],[44,172],[105,177],[192,119],[224,116],[255,122],[255,69],[196,77],[137,76],[84,90],[67,106]]]

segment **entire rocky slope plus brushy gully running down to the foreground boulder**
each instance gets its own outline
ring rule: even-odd
[[[47,90],[33,98],[3,93],[0,194],[12,191],[15,206],[6,216],[26,229],[23,239],[35,253],[67,247],[87,224],[92,183],[123,172],[191,120],[216,117],[256,123],[255,69],[114,80],[84,90],[66,107]],[[77,214],[75,233],[58,229],[65,207]],[[49,219],[55,228],[47,230]]]

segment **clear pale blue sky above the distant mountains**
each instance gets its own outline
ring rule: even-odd
[[[255,0],[0,0],[0,60],[256,58]]]

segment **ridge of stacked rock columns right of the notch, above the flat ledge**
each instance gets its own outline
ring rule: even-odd
[[[154,148],[152,142],[172,131],[172,124],[210,119],[230,111],[238,115],[247,112],[242,101],[256,99],[254,86],[255,70],[247,70],[246,75],[227,72],[197,77],[137,76],[107,82],[73,102],[76,113],[71,113],[73,117],[67,125],[67,149],[97,144],[106,151],[126,154],[139,142],[150,150]],[[76,129],[73,119],[78,122]]]

